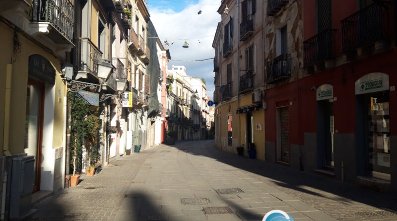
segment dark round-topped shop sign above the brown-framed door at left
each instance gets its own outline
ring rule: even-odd
[[[37,77],[46,83],[55,83],[55,69],[51,63],[41,55],[29,56],[29,75]]]

